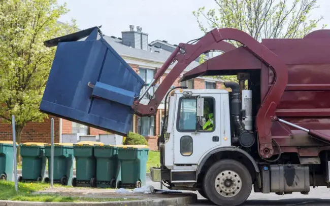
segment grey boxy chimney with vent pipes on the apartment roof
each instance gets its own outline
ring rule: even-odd
[[[129,25],[129,31],[122,31],[122,44],[135,48],[148,50],[148,34],[142,32],[142,27],[137,26],[134,30],[134,25]]]

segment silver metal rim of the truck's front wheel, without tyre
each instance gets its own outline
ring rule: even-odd
[[[242,179],[236,172],[226,170],[217,175],[214,186],[221,196],[233,197],[241,191]]]

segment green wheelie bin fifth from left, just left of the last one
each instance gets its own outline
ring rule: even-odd
[[[116,187],[120,168],[118,167],[118,147],[95,145],[96,187]]]

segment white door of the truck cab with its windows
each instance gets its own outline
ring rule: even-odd
[[[203,130],[197,117],[197,96],[204,98],[203,110],[209,106],[214,115],[212,130]],[[197,164],[210,149],[221,145],[220,94],[178,96],[174,119],[174,164]]]

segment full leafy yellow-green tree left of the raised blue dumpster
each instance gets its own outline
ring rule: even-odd
[[[74,20],[57,22],[68,11],[56,0],[0,0],[0,117],[15,115],[18,143],[27,122],[47,117],[39,104],[56,48],[43,42],[77,30]]]

